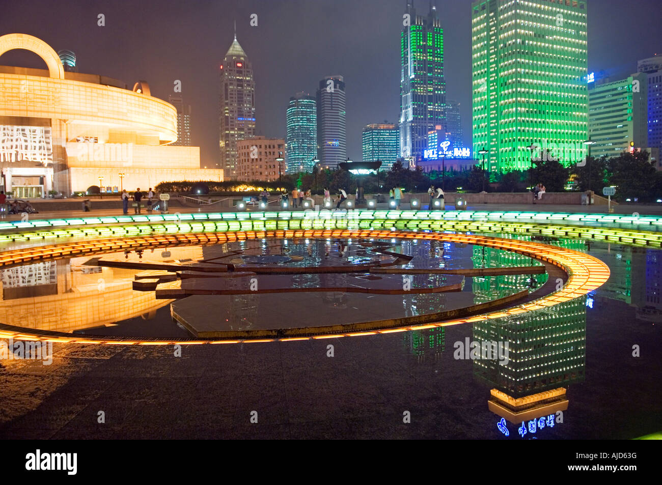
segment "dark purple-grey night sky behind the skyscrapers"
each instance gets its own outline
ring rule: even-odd
[[[218,66],[233,38],[253,64],[258,135],[285,137],[285,109],[297,91],[314,94],[325,75],[343,75],[347,148],[361,159],[365,124],[397,122],[399,39],[405,0],[21,0],[3,1],[0,35],[31,34],[56,51],[73,50],[80,72],[138,79],[167,99],[182,82],[193,107],[192,142],[202,165],[218,160]],[[471,141],[471,0],[436,0],[444,28],[448,99],[461,103],[465,144]],[[587,0],[589,72],[612,79],[662,52],[662,0]],[[414,0],[427,13],[428,0]],[[97,26],[97,15],[105,26]],[[251,14],[258,26],[250,26]],[[36,54],[15,50],[0,64],[40,67]]]

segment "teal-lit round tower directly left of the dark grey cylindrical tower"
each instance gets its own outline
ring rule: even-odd
[[[287,173],[310,172],[317,158],[317,103],[297,93],[287,106]]]

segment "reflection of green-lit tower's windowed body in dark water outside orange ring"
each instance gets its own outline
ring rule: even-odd
[[[513,398],[584,380],[586,297],[473,325],[474,341],[508,343],[508,359],[473,361],[474,375]]]

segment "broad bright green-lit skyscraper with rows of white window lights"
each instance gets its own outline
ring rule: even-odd
[[[583,159],[586,1],[474,0],[471,39],[473,152],[501,172],[528,169],[531,144]]]

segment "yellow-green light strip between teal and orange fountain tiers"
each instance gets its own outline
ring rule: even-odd
[[[371,220],[355,220],[348,218],[229,220],[216,222],[171,222],[168,224],[67,228],[54,231],[0,235],[0,243],[45,241],[57,238],[109,238],[137,236],[142,234],[181,234],[287,229],[390,229],[410,231],[512,232],[662,247],[662,233],[634,229],[589,228],[583,226],[505,221],[419,220],[416,218],[400,218],[398,220],[385,218]]]

